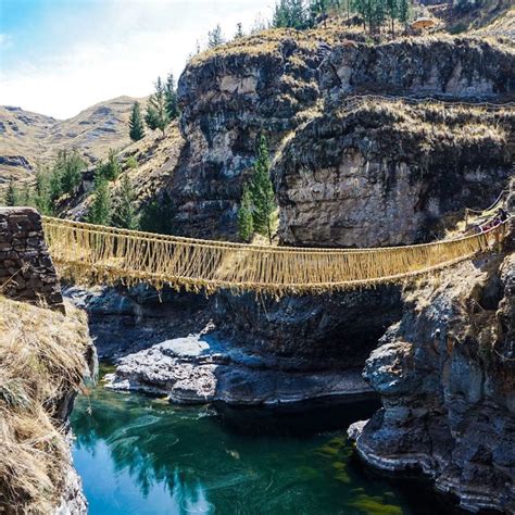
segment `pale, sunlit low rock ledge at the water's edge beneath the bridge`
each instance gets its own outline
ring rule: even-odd
[[[216,334],[177,338],[120,360],[109,388],[165,395],[171,402],[275,405],[370,397],[360,368],[280,370],[277,359],[235,347]]]

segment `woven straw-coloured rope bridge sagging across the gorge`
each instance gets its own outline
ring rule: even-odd
[[[324,292],[394,282],[451,266],[490,249],[504,224],[480,234],[406,247],[311,249],[210,241],[43,216],[47,244],[61,276],[76,282],[147,282],[187,290],[221,288]]]

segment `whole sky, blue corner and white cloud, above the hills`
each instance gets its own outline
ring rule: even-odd
[[[67,118],[97,102],[145,97],[180,75],[219,23],[249,32],[274,0],[0,0],[0,105]]]

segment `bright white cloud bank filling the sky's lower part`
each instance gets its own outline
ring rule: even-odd
[[[143,97],[158,75],[173,71],[178,77],[196,41],[216,23],[233,35],[238,22],[250,28],[258,12],[267,14],[258,0],[190,0],[203,5],[187,12],[173,9],[185,4],[178,0],[114,3],[97,27],[78,27],[64,51],[22,61],[2,73],[0,102],[64,118],[110,98]],[[229,9],[236,3],[238,9]],[[226,10],[216,12],[214,4]]]

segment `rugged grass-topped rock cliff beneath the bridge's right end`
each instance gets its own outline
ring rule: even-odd
[[[513,239],[507,244],[504,258],[462,264],[405,292],[401,322],[364,373],[384,407],[350,429],[365,462],[423,470],[470,511],[515,511]]]

